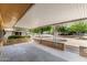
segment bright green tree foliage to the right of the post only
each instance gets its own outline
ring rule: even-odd
[[[61,32],[62,34],[68,34],[68,35],[78,34],[78,33],[87,33],[87,23],[79,21],[79,22],[73,23],[68,28],[64,25],[57,26],[56,30]]]

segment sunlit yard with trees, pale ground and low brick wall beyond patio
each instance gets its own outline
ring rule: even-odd
[[[30,30],[30,32],[33,33],[33,39],[35,41],[41,41],[40,44],[56,47],[62,51],[80,54],[81,47],[87,47],[86,20],[72,23],[40,26]],[[61,45],[56,45],[55,43],[61,43]],[[87,51],[85,50],[85,52]],[[87,55],[85,52],[83,52],[83,54]]]

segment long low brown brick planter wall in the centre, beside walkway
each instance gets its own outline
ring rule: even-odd
[[[34,39],[34,41],[40,43],[40,44],[43,44],[45,46],[50,46],[50,47],[57,48],[57,50],[61,50],[61,51],[65,50],[65,44],[64,43],[55,43],[53,41],[39,40],[39,39]]]

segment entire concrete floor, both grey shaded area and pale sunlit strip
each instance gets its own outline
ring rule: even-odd
[[[79,54],[59,51],[36,42],[0,47],[0,62],[87,62]]]

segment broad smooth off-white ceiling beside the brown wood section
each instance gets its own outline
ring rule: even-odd
[[[34,4],[17,26],[35,28],[87,18],[87,4]]]

